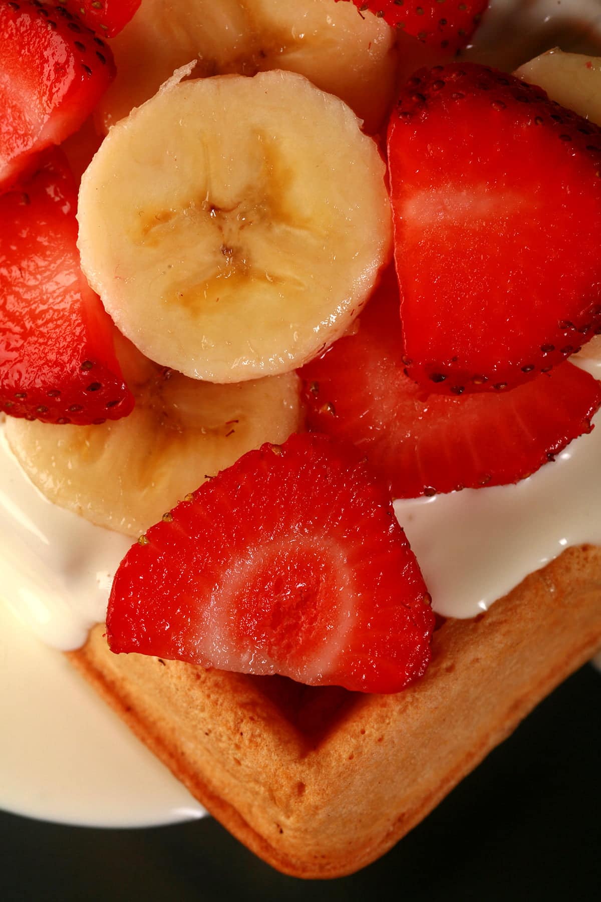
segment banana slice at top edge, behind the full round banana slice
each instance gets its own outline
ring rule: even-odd
[[[195,58],[197,77],[300,72],[341,97],[369,133],[382,126],[395,90],[393,30],[334,0],[143,0],[111,50],[117,78],[99,110],[105,131]]]

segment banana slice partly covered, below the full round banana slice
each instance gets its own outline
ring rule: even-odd
[[[139,536],[219,470],[302,428],[294,373],[237,385],[196,382],[116,344],[136,399],[102,426],[8,418],[6,437],[51,502],[98,526]]]

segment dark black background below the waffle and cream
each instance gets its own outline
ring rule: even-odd
[[[91,830],[0,813],[0,899],[599,898],[600,702],[601,674],[584,667],[423,824],[352,877],[284,877],[208,819],[150,830]]]

